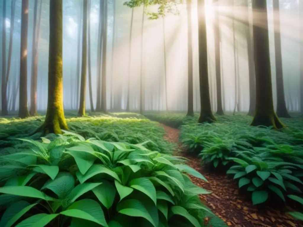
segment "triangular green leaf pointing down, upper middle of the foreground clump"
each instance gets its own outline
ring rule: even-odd
[[[75,159],[78,169],[82,174],[85,174],[86,171],[94,164],[95,160],[97,159],[97,157],[93,154],[83,151],[73,150],[65,151],[64,153],[71,155]]]

